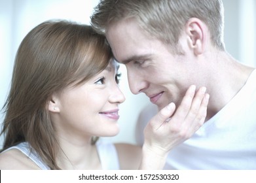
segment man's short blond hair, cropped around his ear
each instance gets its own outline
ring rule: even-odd
[[[198,18],[208,26],[211,44],[225,50],[223,12],[221,0],[101,0],[91,24],[102,34],[111,24],[135,18],[147,33],[177,52],[181,30],[190,18]]]

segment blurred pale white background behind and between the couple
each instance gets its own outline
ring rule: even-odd
[[[234,58],[256,66],[256,2],[255,0],[223,0],[225,7],[225,44]],[[36,25],[49,19],[73,20],[90,24],[90,15],[98,0],[0,0],[0,108],[9,92],[16,50],[25,35]],[[149,104],[144,94],[132,95],[126,70],[120,67],[120,88],[126,101],[120,105],[120,133],[109,138],[113,142],[135,143],[135,125],[139,112]],[[4,115],[0,113],[0,124]],[[3,137],[0,137],[0,147]]]

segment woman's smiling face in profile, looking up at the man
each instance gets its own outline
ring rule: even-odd
[[[125,97],[112,63],[85,83],[65,88],[58,94],[56,123],[62,137],[107,137],[119,133],[119,104]]]

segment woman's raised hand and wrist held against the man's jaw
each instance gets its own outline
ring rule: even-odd
[[[144,129],[145,141],[142,149],[140,169],[162,169],[168,152],[189,139],[206,119],[209,94],[202,87],[189,87],[181,105],[162,108]]]

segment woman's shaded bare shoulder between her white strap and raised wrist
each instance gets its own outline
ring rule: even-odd
[[[138,169],[141,161],[141,146],[126,143],[116,143],[119,155],[120,169]]]

